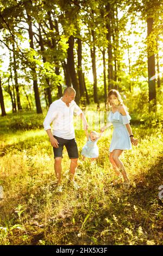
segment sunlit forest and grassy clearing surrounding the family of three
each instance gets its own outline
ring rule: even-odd
[[[0,0],[0,8],[0,245],[162,245],[163,1]],[[121,155],[130,188],[111,185],[112,127],[91,163],[74,118],[79,188],[64,149],[58,191],[42,124],[67,86],[97,132],[108,91],[120,91],[139,139]]]

